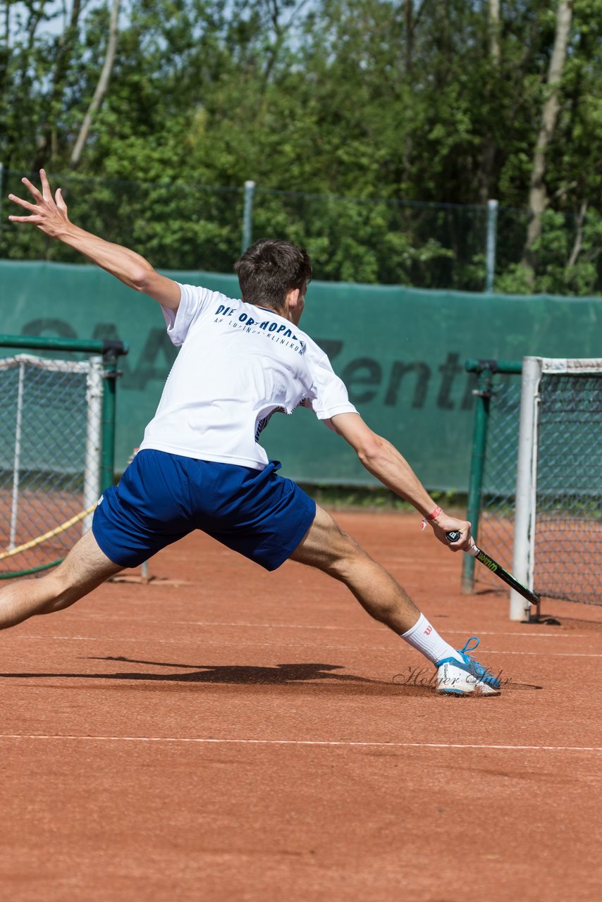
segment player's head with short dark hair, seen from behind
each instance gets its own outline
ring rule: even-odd
[[[262,238],[236,261],[243,300],[280,310],[288,291],[311,281],[310,257],[304,247],[278,238]]]

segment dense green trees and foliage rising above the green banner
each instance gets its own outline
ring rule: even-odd
[[[44,165],[81,225],[158,266],[230,271],[254,179],[255,237],[306,244],[317,278],[468,290],[495,197],[496,290],[600,290],[602,0],[574,3],[534,275],[523,211],[554,5],[502,4],[495,58],[486,0],[132,0],[77,173],[110,0],[64,7],[6,0],[0,16],[9,189]],[[25,231],[3,224],[0,253],[76,259]]]

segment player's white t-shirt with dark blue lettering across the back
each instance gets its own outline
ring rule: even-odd
[[[325,420],[357,412],[326,354],[288,319],[217,291],[180,288],[178,310],[162,311],[181,351],[141,449],[263,470],[258,438],[274,411],[302,404]]]

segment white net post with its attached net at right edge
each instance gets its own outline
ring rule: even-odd
[[[539,595],[602,604],[602,360],[525,357],[514,562]],[[511,593],[510,618],[525,618]]]

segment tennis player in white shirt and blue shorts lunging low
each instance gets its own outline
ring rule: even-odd
[[[498,695],[499,680],[444,640],[386,570],[359,548],[299,486],[276,473],[259,444],[275,411],[310,408],[343,437],[366,469],[419,511],[435,536],[458,530],[452,551],[473,544],[470,524],[432,500],[403,456],[366,426],[328,357],[299,327],[311,278],[307,253],[286,241],[258,241],[236,262],[242,299],[155,272],[139,254],[69,221],[44,170],[31,199],[9,195],[37,226],[107,272],[159,301],[181,348],[140,451],[104,492],[92,528],[64,562],[0,593],[0,627],[69,607],[124,567],[140,565],[193,529],[273,570],[285,560],[318,567],[351,590],[372,617],[437,667],[437,691]],[[478,640],[473,637],[473,640]]]

